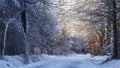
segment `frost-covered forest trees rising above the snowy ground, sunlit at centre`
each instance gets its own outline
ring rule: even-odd
[[[0,0],[0,56],[103,55],[113,50],[112,58],[120,58],[119,4],[119,0]]]

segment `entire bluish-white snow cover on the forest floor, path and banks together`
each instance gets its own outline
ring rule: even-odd
[[[24,65],[20,56],[6,56],[0,60],[0,68],[120,68],[120,60],[101,64],[108,56],[92,57],[90,54],[71,54],[68,56],[42,55],[42,60]]]

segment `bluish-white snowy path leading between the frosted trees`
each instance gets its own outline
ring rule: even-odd
[[[31,63],[19,68],[102,68],[106,57],[92,58],[91,55],[77,56],[47,56],[37,63]]]

